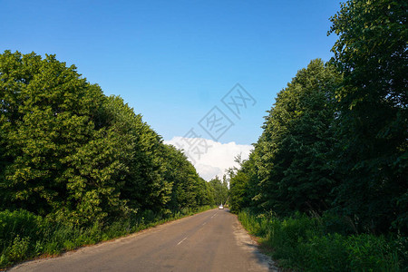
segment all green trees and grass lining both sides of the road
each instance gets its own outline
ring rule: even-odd
[[[282,267],[408,267],[407,4],[353,0],[329,63],[277,94],[248,160],[206,182],[54,55],[0,54],[0,267],[228,202]]]

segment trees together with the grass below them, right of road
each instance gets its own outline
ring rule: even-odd
[[[282,267],[408,267],[407,4],[348,1],[229,171],[231,209]]]

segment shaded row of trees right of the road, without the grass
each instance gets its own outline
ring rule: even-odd
[[[331,212],[356,231],[408,233],[407,7],[341,5],[334,57],[277,93],[248,160],[230,171],[232,209]]]

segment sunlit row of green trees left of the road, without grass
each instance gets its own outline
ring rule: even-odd
[[[213,183],[74,65],[55,55],[0,54],[1,210],[83,226],[219,204]]]

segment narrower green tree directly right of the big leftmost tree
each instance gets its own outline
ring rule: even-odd
[[[120,97],[108,98],[105,117],[112,130],[121,134],[123,158],[127,173],[122,176],[121,199],[133,211],[164,209],[170,200],[171,182],[164,179],[164,145],[155,131],[135,114]]]

